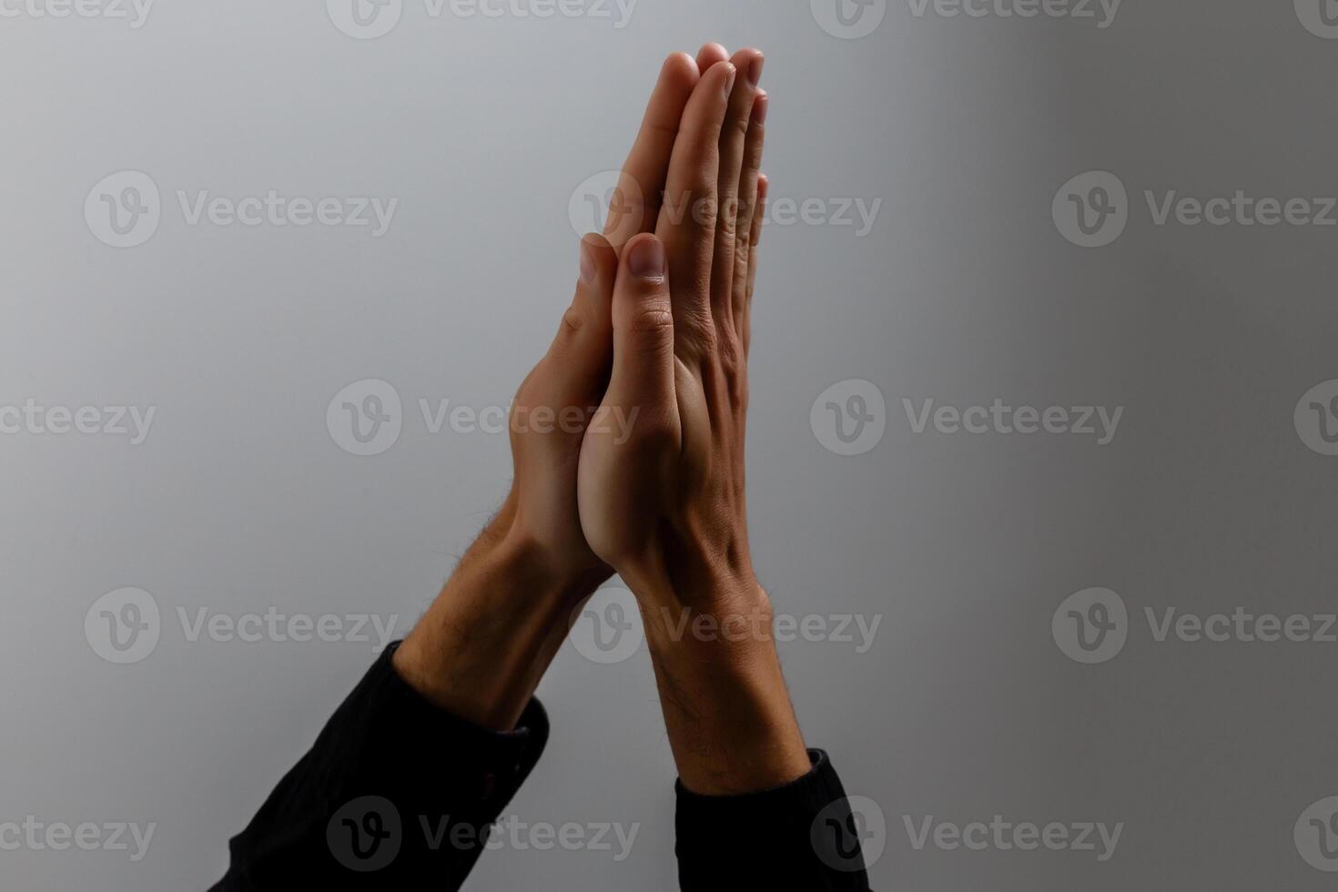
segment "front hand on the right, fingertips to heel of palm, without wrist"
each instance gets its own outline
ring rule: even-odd
[[[656,235],[628,242],[613,298],[615,361],[601,411],[636,412],[637,424],[625,443],[605,431],[585,437],[581,522],[593,551],[648,596],[756,588],[744,433],[767,191],[761,63],[745,49],[702,75]]]

